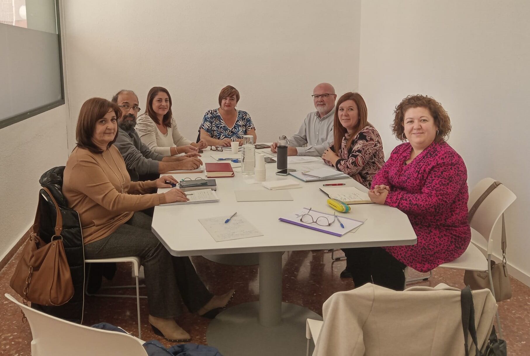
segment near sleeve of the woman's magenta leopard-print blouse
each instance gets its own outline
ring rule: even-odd
[[[385,204],[405,213],[431,214],[450,205],[467,181],[464,161],[453,154],[438,155],[433,159],[438,162],[427,173],[421,193],[391,190],[386,196]]]

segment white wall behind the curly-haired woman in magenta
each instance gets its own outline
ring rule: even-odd
[[[517,195],[506,215],[508,263],[530,285],[530,2],[364,0],[361,8],[359,90],[386,157],[399,144],[389,128],[395,105],[418,93],[440,101],[469,186],[492,177]]]

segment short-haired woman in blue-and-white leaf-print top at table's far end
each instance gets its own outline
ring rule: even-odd
[[[254,136],[256,128],[246,111],[235,107],[240,95],[232,85],[225,86],[219,93],[219,108],[208,110],[204,114],[199,132],[201,140],[210,146],[230,146],[232,141],[243,144],[244,135]]]

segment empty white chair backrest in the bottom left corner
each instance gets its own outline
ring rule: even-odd
[[[147,356],[142,340],[132,335],[70,323],[31,309],[11,294],[4,295],[19,306],[28,318],[33,335],[32,356]]]

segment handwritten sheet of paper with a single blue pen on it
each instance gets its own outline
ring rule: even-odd
[[[199,222],[217,242],[263,236],[263,234],[242,215],[235,215],[232,220],[225,224],[225,220],[228,219],[230,215],[199,219]]]

